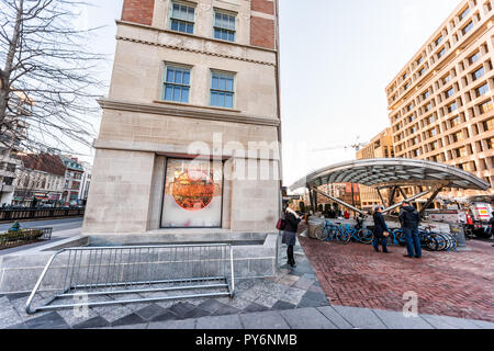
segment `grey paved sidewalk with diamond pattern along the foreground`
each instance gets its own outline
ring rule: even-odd
[[[77,317],[71,309],[27,315],[29,294],[3,295],[0,329],[494,329],[494,324],[481,320],[434,315],[405,318],[400,312],[330,305],[299,245],[295,260],[295,269],[283,267],[278,276],[239,281],[233,299],[100,306]],[[41,293],[38,298],[49,294]]]

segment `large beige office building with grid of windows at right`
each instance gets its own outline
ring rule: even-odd
[[[454,166],[491,185],[494,184],[493,8],[492,0],[462,1],[386,87],[396,157]],[[490,193],[493,194],[492,189]]]

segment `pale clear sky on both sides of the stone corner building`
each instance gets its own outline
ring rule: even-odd
[[[109,54],[123,0],[90,0],[82,26],[105,27],[91,45]],[[351,148],[390,125],[385,87],[460,0],[280,0],[283,183],[355,159]]]

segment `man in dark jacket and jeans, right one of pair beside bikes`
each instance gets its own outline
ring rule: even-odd
[[[407,258],[422,258],[420,238],[418,236],[418,224],[420,215],[409,202],[404,202],[400,212],[400,223],[406,240]]]

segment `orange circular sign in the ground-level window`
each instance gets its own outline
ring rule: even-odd
[[[187,211],[201,211],[213,201],[215,185],[206,172],[189,170],[175,177],[170,190],[180,207]]]

